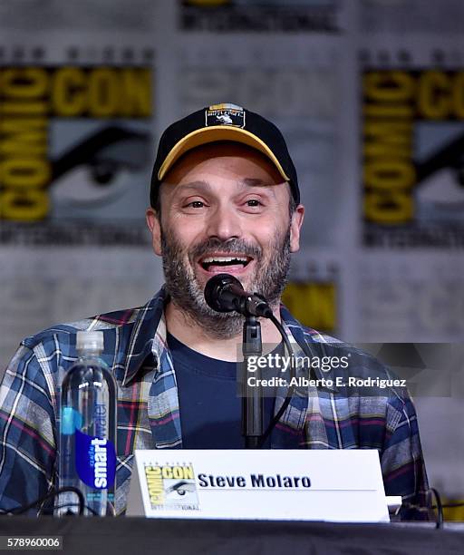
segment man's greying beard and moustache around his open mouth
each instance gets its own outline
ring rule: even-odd
[[[255,258],[256,274],[247,287],[266,297],[270,307],[278,306],[290,268],[290,226],[285,237],[275,234],[269,244],[269,260],[263,264],[262,249],[243,239],[208,239],[185,251],[169,232],[161,232],[161,247],[166,287],[172,302],[191,324],[200,326],[205,335],[215,339],[236,337],[242,331],[244,316],[235,312],[217,312],[208,306],[203,287],[193,271],[195,260],[220,250],[224,254],[240,252]],[[189,263],[186,263],[188,255]],[[224,268],[227,273],[227,266]]]

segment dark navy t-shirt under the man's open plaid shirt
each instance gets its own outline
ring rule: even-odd
[[[201,355],[169,333],[168,346],[176,370],[184,449],[243,449],[237,363]],[[274,397],[265,397],[265,430],[274,403]]]

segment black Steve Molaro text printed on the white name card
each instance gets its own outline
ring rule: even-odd
[[[217,476],[198,474],[200,488],[310,488],[309,476],[282,476],[281,474],[250,474],[246,476]]]

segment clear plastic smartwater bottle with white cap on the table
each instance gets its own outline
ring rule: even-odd
[[[77,332],[76,349],[61,393],[59,486],[82,492],[84,514],[114,515],[117,385],[100,358],[101,331]],[[61,493],[56,513],[78,513],[78,503],[75,493]]]

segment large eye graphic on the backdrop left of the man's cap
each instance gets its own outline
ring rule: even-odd
[[[131,186],[127,172],[150,160],[150,135],[108,126],[85,137],[52,162],[53,203],[92,208],[116,200]]]

